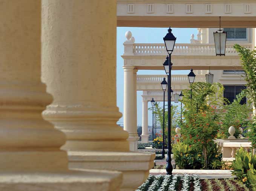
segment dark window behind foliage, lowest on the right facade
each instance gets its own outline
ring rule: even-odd
[[[224,98],[227,98],[230,103],[234,101],[236,98],[236,95],[242,92],[243,89],[246,88],[246,86],[225,86],[224,85]],[[246,97],[244,97],[240,104],[245,104],[246,103]]]

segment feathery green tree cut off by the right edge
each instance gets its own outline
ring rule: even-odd
[[[247,81],[247,98],[250,99],[254,108],[256,108],[256,50],[249,50],[235,44],[234,48],[238,51],[241,59],[242,68],[244,70],[244,79]],[[256,117],[252,117],[252,121],[248,124],[250,132],[248,132],[249,140],[252,147],[256,148]]]

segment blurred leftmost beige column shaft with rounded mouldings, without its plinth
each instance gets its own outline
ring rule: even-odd
[[[65,135],[43,120],[41,2],[0,1],[0,171],[67,169]]]

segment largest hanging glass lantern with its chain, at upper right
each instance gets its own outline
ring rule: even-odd
[[[213,32],[216,56],[225,56],[227,32],[221,29],[221,17],[219,17],[219,30]]]

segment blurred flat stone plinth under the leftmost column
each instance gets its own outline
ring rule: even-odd
[[[120,172],[81,170],[58,173],[0,173],[1,191],[119,191]],[[86,190],[86,189],[85,189]]]

